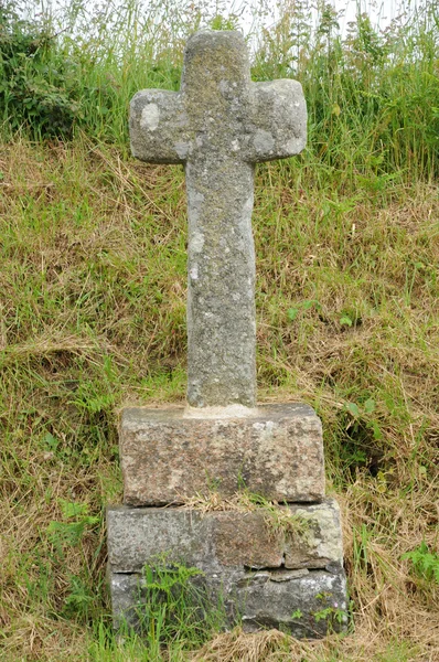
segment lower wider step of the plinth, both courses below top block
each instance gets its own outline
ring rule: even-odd
[[[160,555],[202,572],[210,604],[228,626],[279,628],[321,637],[346,622],[340,513],[333,500],[272,513],[201,513],[110,508],[109,581],[115,624],[136,627],[144,600],[143,568]],[[200,578],[197,578],[200,583]]]

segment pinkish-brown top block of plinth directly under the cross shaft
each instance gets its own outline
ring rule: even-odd
[[[120,426],[124,502],[181,503],[243,483],[266,499],[324,496],[320,419],[301,404],[260,405],[242,418],[185,418],[184,410],[124,409]]]

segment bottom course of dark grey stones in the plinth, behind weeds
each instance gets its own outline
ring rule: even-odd
[[[115,627],[138,628],[146,581],[140,573],[110,573]],[[246,632],[277,628],[293,637],[315,639],[347,623],[346,586],[341,566],[328,570],[228,572],[205,575],[213,607],[222,606],[227,627],[242,622]],[[201,617],[203,618],[203,617]]]

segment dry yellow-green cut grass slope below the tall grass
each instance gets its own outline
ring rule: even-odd
[[[255,75],[282,75],[270,62]],[[415,74],[393,99],[416,97]],[[414,119],[407,103],[410,138],[385,127],[379,151],[388,113],[353,124],[346,88],[325,88],[323,118],[308,87],[310,146],[258,169],[254,227],[260,399],[322,418],[355,630],[233,633],[203,660],[439,659],[439,584],[403,558],[438,553],[439,199],[413,126],[431,108]],[[121,494],[120,407],[184,397],[183,173],[85,134],[15,136],[0,171],[0,659],[156,660],[111,642],[101,515]]]

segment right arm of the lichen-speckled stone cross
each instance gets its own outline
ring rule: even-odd
[[[307,105],[298,81],[251,83],[251,122],[246,160],[285,159],[307,143]]]

